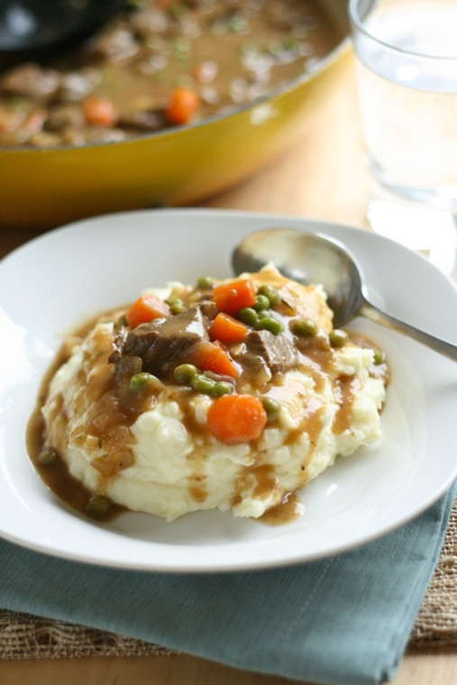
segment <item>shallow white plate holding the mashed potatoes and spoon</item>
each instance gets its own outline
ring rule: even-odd
[[[170,279],[231,274],[233,246],[269,226],[321,231],[360,260],[370,298],[448,340],[455,288],[422,257],[379,236],[278,215],[163,210],[71,224],[0,264],[0,534],[44,553],[151,571],[230,571],[306,562],[385,534],[431,505],[456,477],[456,369],[420,344],[358,319],[388,353],[392,381],[375,449],[337,461],[301,493],[304,515],[269,527],[205,512],[167,524],[126,514],[78,516],[47,489],[25,446],[27,420],[62,333]],[[369,453],[363,453],[369,452]]]

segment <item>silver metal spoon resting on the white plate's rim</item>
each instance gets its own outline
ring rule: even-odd
[[[343,245],[333,238],[294,229],[267,229],[251,233],[233,251],[232,263],[236,274],[257,271],[269,262],[289,279],[308,284],[320,283],[334,312],[335,328],[354,316],[365,316],[457,361],[457,347],[451,342],[420,331],[371,305],[363,294],[359,268]]]

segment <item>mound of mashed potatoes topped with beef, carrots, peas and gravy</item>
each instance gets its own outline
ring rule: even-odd
[[[171,284],[70,346],[45,448],[90,493],[168,521],[258,518],[379,439],[385,364],[332,329],[322,288],[270,267],[226,285]]]

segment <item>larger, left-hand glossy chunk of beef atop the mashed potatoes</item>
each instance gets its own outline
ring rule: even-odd
[[[178,360],[198,342],[209,340],[208,324],[208,317],[196,306],[183,314],[140,324],[132,331],[123,328],[114,340],[111,361],[119,366],[124,355],[140,357],[143,371],[161,377],[170,361]]]

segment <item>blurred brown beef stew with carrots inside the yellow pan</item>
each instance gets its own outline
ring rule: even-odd
[[[123,141],[249,103],[340,36],[315,0],[137,0],[77,54],[0,62],[0,145]]]

